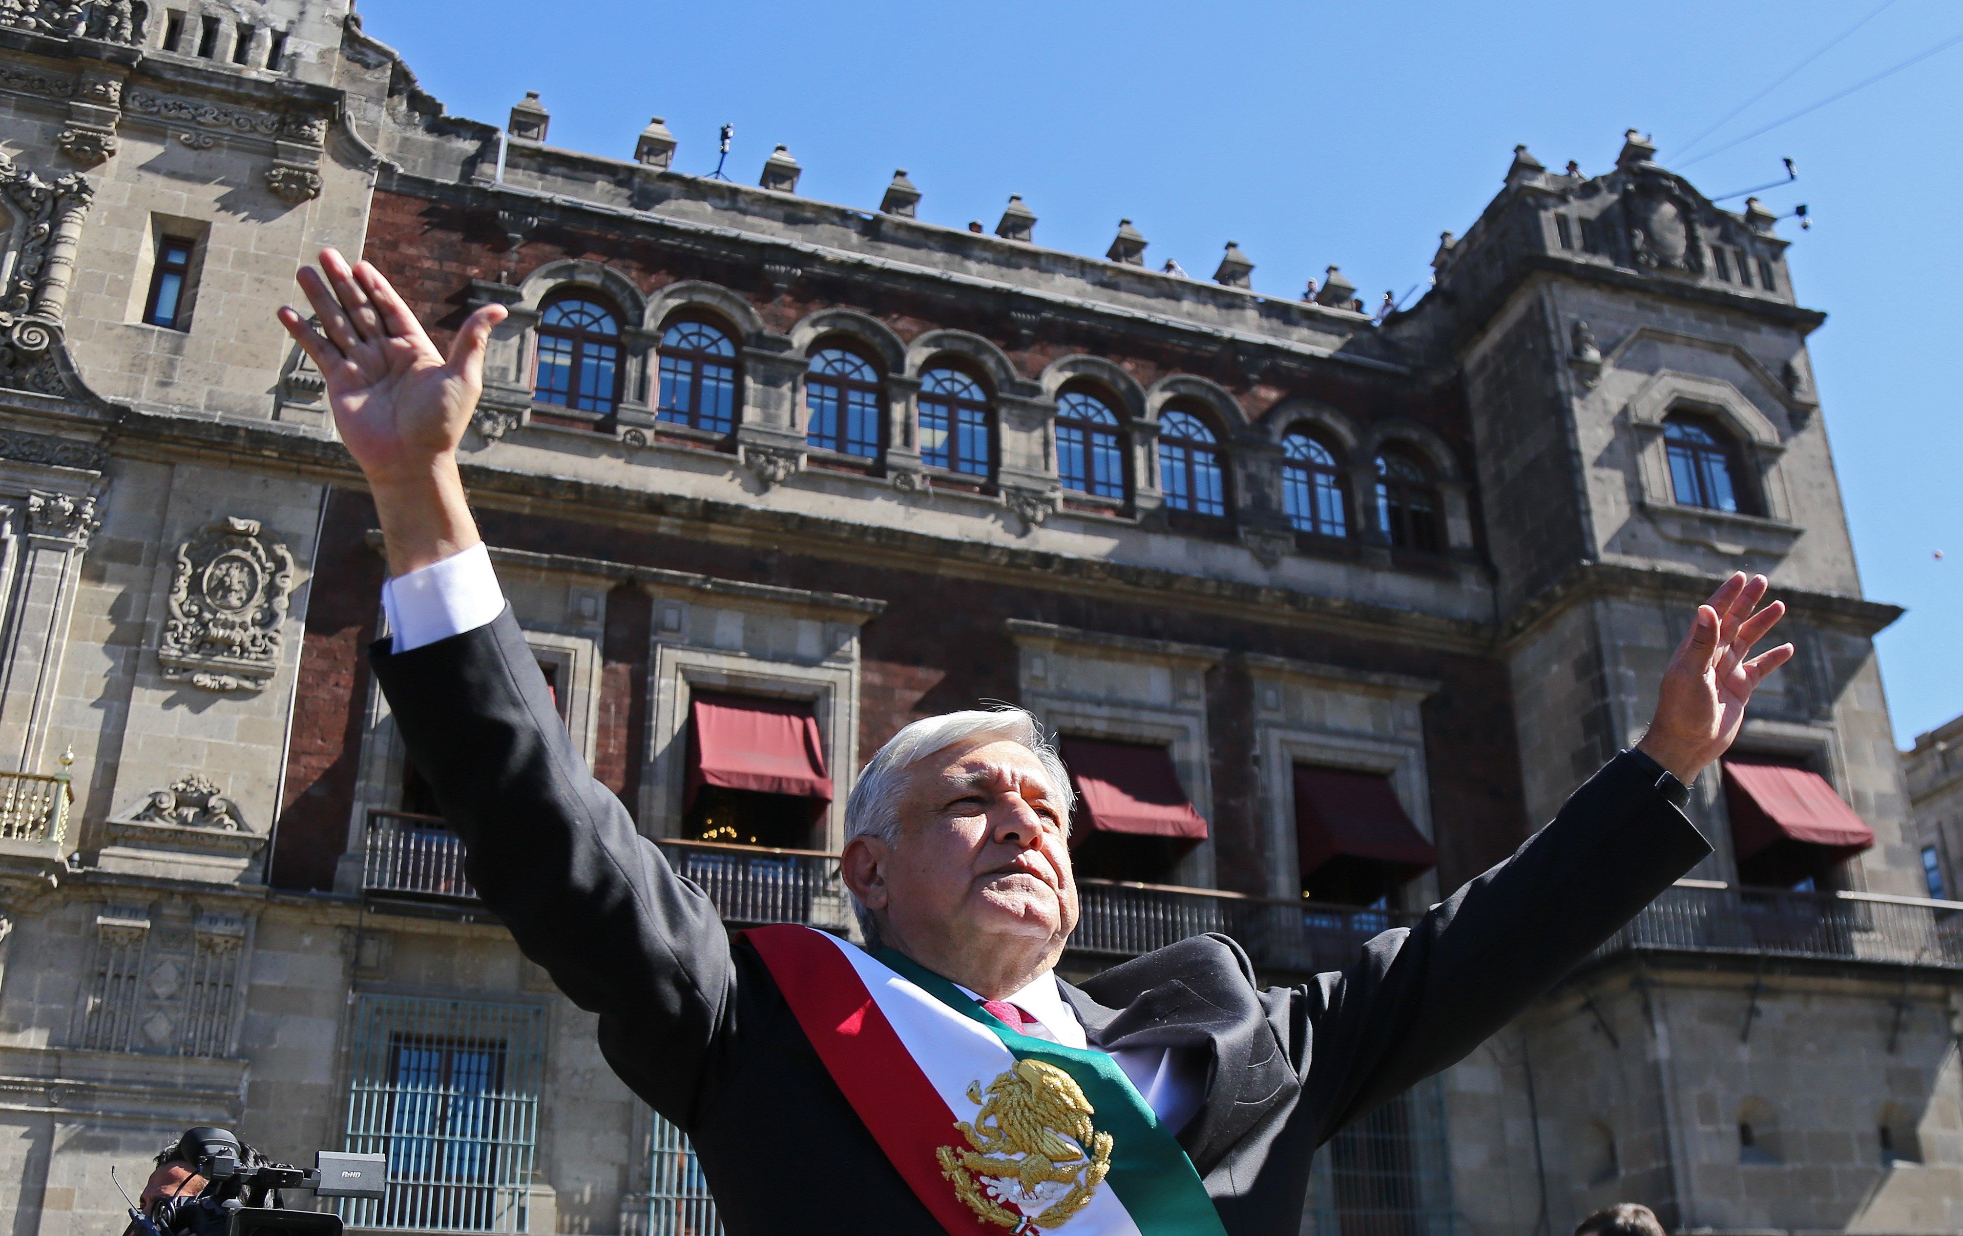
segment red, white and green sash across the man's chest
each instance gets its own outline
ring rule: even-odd
[[[1117,1061],[1017,1034],[891,950],[744,932],[907,1187],[954,1236],[1225,1236]]]

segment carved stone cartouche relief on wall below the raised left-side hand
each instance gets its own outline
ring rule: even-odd
[[[259,530],[228,516],[177,551],[171,620],[157,661],[163,677],[204,691],[259,691],[279,669],[292,555]]]

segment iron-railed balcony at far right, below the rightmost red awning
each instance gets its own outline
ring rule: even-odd
[[[1680,881],[1596,950],[1963,969],[1963,904]]]

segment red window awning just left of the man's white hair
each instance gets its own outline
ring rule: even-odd
[[[801,700],[697,691],[691,702],[687,802],[705,785],[832,800],[819,718]]]

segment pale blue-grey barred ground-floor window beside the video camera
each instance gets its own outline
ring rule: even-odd
[[[389,1156],[389,1197],[342,1203],[357,1228],[526,1232],[546,1010],[359,997],[347,1150]]]

